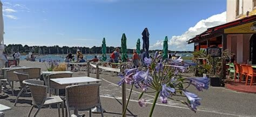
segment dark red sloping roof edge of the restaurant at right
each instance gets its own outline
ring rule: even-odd
[[[250,23],[252,21],[256,21],[256,15],[248,16],[245,18],[231,21],[231,22],[223,24],[223,25],[208,28],[205,32],[203,32],[199,35],[196,35],[194,38],[188,40],[187,43],[204,41],[205,39],[212,38],[215,35],[224,34],[224,29],[226,29],[226,28]]]

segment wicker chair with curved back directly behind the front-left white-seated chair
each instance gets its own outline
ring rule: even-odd
[[[21,85],[22,89],[19,90],[18,96],[15,100],[14,106],[16,106],[16,103],[18,101],[19,96],[21,96],[21,94],[23,93],[24,90],[26,90],[26,85],[23,84],[22,82],[26,79],[29,79],[29,74],[27,72],[22,72],[22,71],[14,71],[14,74],[17,75],[18,79],[19,79],[19,85]]]

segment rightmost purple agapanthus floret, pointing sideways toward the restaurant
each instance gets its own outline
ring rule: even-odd
[[[186,80],[190,81],[190,84],[196,86],[198,91],[203,91],[203,89],[207,90],[209,88],[208,85],[210,81],[207,77],[187,77]]]

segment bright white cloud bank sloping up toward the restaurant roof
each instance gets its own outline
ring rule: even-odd
[[[172,38],[169,39],[168,45],[177,50],[189,49],[188,47],[190,46],[187,45],[187,40],[206,31],[207,28],[218,26],[224,23],[226,23],[226,11],[220,14],[215,14],[207,19],[198,21],[195,26],[188,28],[188,30],[181,35],[172,36]],[[163,44],[163,40],[158,40],[156,43],[154,43],[153,46],[151,46],[151,48],[156,49],[163,47]]]

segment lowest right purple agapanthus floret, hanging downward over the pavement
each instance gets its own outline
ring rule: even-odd
[[[188,92],[188,91],[182,91],[182,92],[185,94],[187,99],[190,101],[187,106],[192,111],[196,112],[197,106],[201,105],[200,102],[199,102],[201,100],[201,98],[199,98],[196,94]]]

